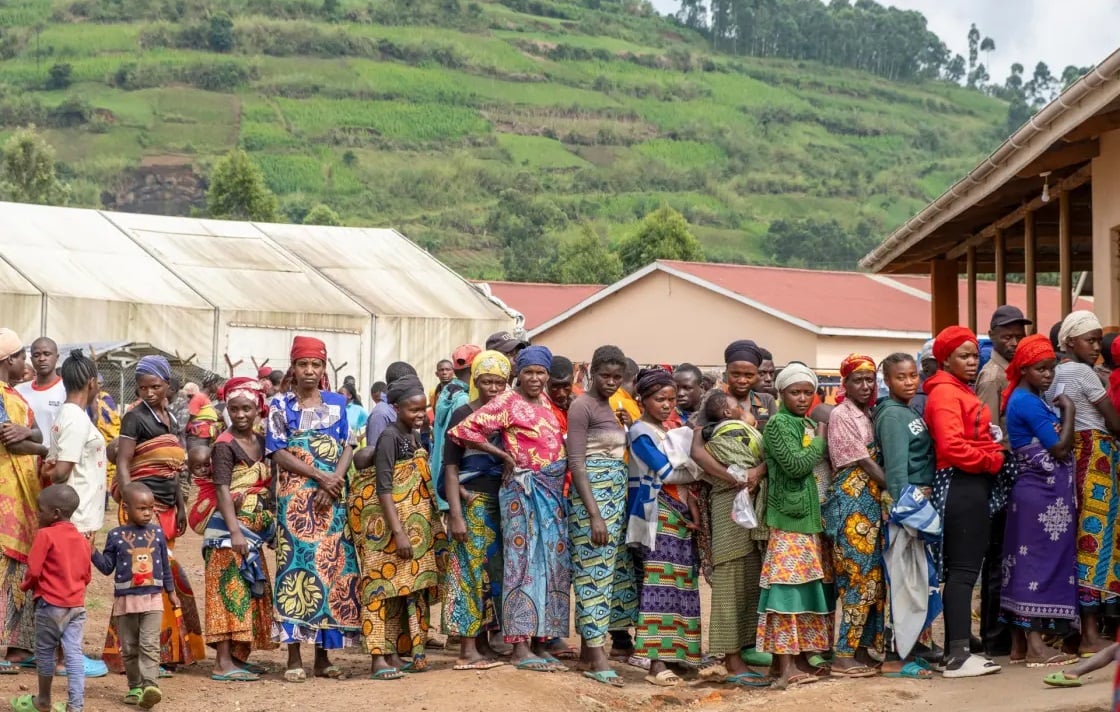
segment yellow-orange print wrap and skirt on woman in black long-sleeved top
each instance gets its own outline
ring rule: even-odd
[[[398,555],[373,470],[358,472],[352,489],[348,515],[362,571],[358,602],[365,649],[370,655],[422,655],[447,554],[428,453],[417,450],[393,466],[393,504],[412,544],[411,559]]]

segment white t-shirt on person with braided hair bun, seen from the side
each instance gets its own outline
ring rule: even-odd
[[[47,459],[74,463],[66,484],[77,491],[78,507],[71,522],[83,534],[100,531],[105,523],[105,439],[77,405],[63,403],[58,410]]]

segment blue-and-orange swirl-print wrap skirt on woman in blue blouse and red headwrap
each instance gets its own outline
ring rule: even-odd
[[[296,431],[288,452],[334,472],[343,446],[317,430]],[[315,508],[315,480],[279,471],[277,478],[277,578],[272,639],[342,648],[357,635],[357,556],[346,523],[346,485],[339,503]]]

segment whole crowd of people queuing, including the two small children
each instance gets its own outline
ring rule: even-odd
[[[109,671],[151,709],[207,646],[218,682],[259,680],[251,655],[281,645],[289,682],[304,646],[310,674],[345,677],[332,655],[352,645],[394,681],[430,668],[440,628],[456,671],[613,686],[617,665],[784,688],[982,676],[1001,656],[1080,685],[1117,650],[1120,340],[1084,311],[1032,326],[1000,307],[983,364],[963,327],[916,356],[852,354],[836,403],[753,340],[712,377],[615,346],[578,371],[500,332],[441,360],[431,392],[390,365],[368,410],[299,336],[286,373],[200,386],[144,357],[122,415],[88,356],[58,367],[49,338],[0,329],[0,674],[38,672],[20,712],[81,710]],[[202,601],[174,553],[188,528]],[[114,599],[86,657],[94,568]]]

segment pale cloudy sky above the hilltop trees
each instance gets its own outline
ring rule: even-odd
[[[675,11],[676,0],[652,0],[662,12]],[[954,53],[968,58],[972,22],[982,36],[996,40],[993,79],[1019,62],[1029,74],[1039,59],[1054,74],[1070,64],[1098,64],[1120,46],[1116,28],[1120,0],[879,0],[906,10],[920,10]],[[980,55],[983,62],[983,55]]]

